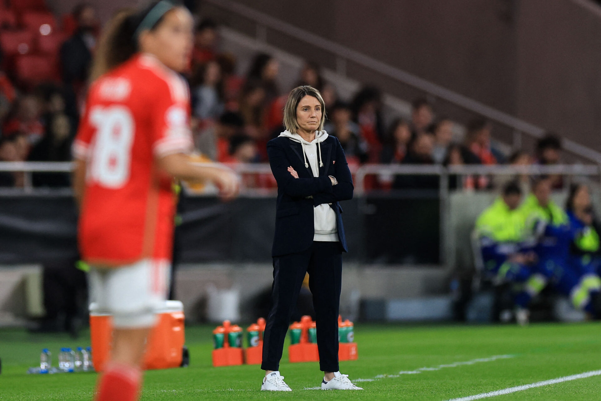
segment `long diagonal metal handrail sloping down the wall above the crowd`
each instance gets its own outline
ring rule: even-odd
[[[233,0],[205,0],[205,2],[254,22],[256,24],[256,38],[259,41],[267,41],[267,28],[269,28],[329,52],[335,56],[337,72],[340,73],[340,75],[346,75],[347,61],[352,61],[362,67],[366,67],[367,69],[382,74],[383,76],[403,82],[403,84],[409,87],[424,91],[425,93],[438,97],[439,99],[444,99],[460,108],[482,115],[502,126],[509,127],[512,130],[513,138],[511,145],[514,148],[521,147],[523,134],[538,139],[542,138],[545,133],[545,129],[535,126],[534,124],[520,120],[519,118],[478,102],[477,100],[470,99],[462,94],[451,91],[441,85],[426,81],[426,79],[419,78],[412,73],[382,63],[382,61],[355,51],[350,47],[335,43],[334,41],[323,38],[313,32],[306,31],[305,29],[298,28],[290,23],[261,13],[260,11],[254,10],[254,8],[240,4],[239,2]],[[566,138],[563,138],[563,147],[568,152],[579,156],[579,158],[601,164],[601,152],[597,152],[596,150]]]

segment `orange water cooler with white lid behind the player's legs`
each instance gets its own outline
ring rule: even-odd
[[[90,305],[90,336],[94,369],[102,372],[111,352],[112,317],[100,313],[95,302]],[[183,304],[180,301],[165,301],[164,307],[157,312],[157,323],[148,337],[144,369],[182,366],[184,355],[188,352],[184,342]]]

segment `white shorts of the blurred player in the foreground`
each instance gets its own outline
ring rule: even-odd
[[[90,298],[100,313],[113,316],[115,328],[154,326],[169,287],[168,260],[143,259],[118,268],[90,266]]]

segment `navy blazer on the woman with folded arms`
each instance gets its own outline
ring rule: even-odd
[[[269,164],[278,182],[272,257],[301,252],[311,246],[315,234],[313,208],[322,203],[334,209],[340,245],[344,252],[348,251],[338,201],[353,198],[353,177],[335,136],[328,136],[321,147],[323,167],[319,168],[319,177],[313,177],[311,166],[305,167],[299,142],[285,136],[267,142]],[[288,173],[288,166],[296,170],[297,179]],[[338,184],[332,185],[329,176],[335,177]]]

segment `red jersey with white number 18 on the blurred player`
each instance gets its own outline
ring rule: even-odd
[[[79,248],[91,264],[171,260],[175,197],[157,159],[188,153],[188,85],[151,55],[136,55],[90,88],[73,144],[86,161]]]

